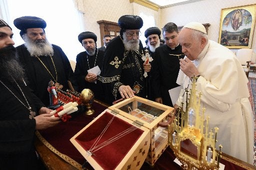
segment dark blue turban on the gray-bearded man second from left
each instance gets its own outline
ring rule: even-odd
[[[21,16],[14,19],[13,24],[20,30],[20,36],[26,33],[27,28],[42,28],[44,31],[46,27],[45,20],[36,16]]]

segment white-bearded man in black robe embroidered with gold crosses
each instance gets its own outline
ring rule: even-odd
[[[139,29],[143,25],[141,17],[123,15],[118,19],[120,35],[114,37],[105,50],[99,80],[104,84],[105,102],[112,104],[120,98],[134,95],[146,98],[144,71],[149,72],[151,65],[144,64],[143,46],[139,40]]]

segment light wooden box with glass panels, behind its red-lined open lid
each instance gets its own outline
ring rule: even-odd
[[[150,131],[150,147],[145,161],[153,166],[168,146],[167,125],[172,119],[173,108],[135,96],[108,109]]]

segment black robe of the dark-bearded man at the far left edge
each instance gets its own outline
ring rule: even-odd
[[[11,92],[28,107],[15,83],[1,80]],[[24,83],[18,83],[34,112],[44,105]],[[35,119],[29,119],[29,110],[0,83],[0,169],[36,170],[34,151]]]

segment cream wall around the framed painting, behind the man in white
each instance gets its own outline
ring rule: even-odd
[[[191,21],[210,23],[209,39],[218,42],[221,8],[235,7],[256,3],[256,0],[201,0],[197,2],[171,6],[160,9],[160,25],[162,28],[167,22],[174,22],[177,26]],[[256,31],[254,29],[251,49],[256,52]],[[231,49],[236,51],[237,49]]]

